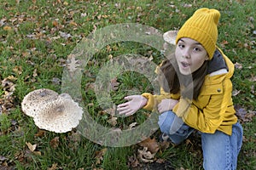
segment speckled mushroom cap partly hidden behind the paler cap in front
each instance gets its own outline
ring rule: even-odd
[[[36,116],[41,107],[58,98],[58,93],[47,88],[41,88],[26,94],[21,102],[21,110],[27,116]]]

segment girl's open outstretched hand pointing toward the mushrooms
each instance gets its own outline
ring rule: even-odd
[[[126,96],[125,99],[129,101],[117,106],[119,114],[125,114],[125,116],[131,116],[137,110],[143,108],[143,106],[148,102],[148,99],[144,98],[142,95]]]

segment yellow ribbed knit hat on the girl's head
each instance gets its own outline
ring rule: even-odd
[[[177,41],[182,37],[189,37],[207,50],[209,59],[212,59],[218,38],[218,20],[220,13],[216,9],[200,8],[187,20],[177,32]]]

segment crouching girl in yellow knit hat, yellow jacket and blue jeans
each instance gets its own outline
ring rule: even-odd
[[[242,143],[231,99],[234,65],[216,46],[219,17],[216,9],[195,11],[177,32],[175,56],[158,69],[161,94],[127,96],[118,105],[119,114],[126,116],[156,107],[162,138],[174,144],[199,131],[207,170],[236,169]]]

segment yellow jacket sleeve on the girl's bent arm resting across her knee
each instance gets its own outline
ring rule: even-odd
[[[224,80],[223,83],[225,85],[220,83],[220,85],[217,84],[206,87],[207,90],[203,95],[199,96],[199,100],[207,100],[207,105],[202,109],[199,109],[199,107],[195,105],[196,102],[180,99],[179,103],[175,105],[172,111],[174,111],[177,116],[181,116],[183,122],[189,125],[189,127],[194,127],[202,133],[215,133],[224,120],[225,111],[232,105],[232,88],[227,88],[232,87],[232,84],[229,79]]]

